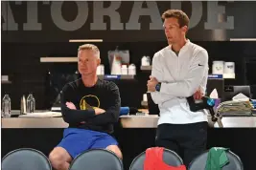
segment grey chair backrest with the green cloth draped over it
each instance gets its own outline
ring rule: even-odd
[[[226,156],[229,159],[229,163],[222,167],[222,170],[244,170],[244,165],[241,159],[231,151],[226,151]],[[193,159],[190,163],[189,170],[204,170],[206,166],[206,160],[208,157],[208,151],[200,154],[196,159]]]

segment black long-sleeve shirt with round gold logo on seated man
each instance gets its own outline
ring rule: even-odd
[[[76,110],[69,109],[66,102],[72,102]],[[94,109],[97,107],[104,109],[105,113],[95,115]],[[111,81],[98,79],[93,87],[85,87],[80,78],[62,89],[61,114],[69,127],[112,133],[120,107],[119,89]]]

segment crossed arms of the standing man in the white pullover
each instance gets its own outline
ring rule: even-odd
[[[163,74],[158,59],[158,56],[154,55],[152,60],[152,76],[147,84],[148,91],[151,92],[151,97],[156,104],[164,101],[163,96],[169,96],[169,99],[171,96],[188,97],[193,95],[196,99],[201,98],[202,92],[200,92],[199,87],[205,72],[208,70],[208,53],[205,50],[198,52],[189,68],[189,73],[183,80],[161,82],[161,88],[159,92],[156,92],[155,86],[159,82],[155,76]]]

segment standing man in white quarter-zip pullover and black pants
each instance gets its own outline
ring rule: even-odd
[[[169,46],[154,54],[148,81],[148,91],[160,110],[156,146],[175,151],[188,166],[206,149],[207,115],[191,112],[186,97],[204,95],[208,53],[186,38],[185,12],[165,11],[162,18]]]

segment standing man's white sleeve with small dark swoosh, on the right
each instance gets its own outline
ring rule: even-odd
[[[208,70],[208,53],[202,50],[193,59],[185,79],[172,83],[163,82],[160,93],[179,97],[193,96],[200,87],[206,70]]]

